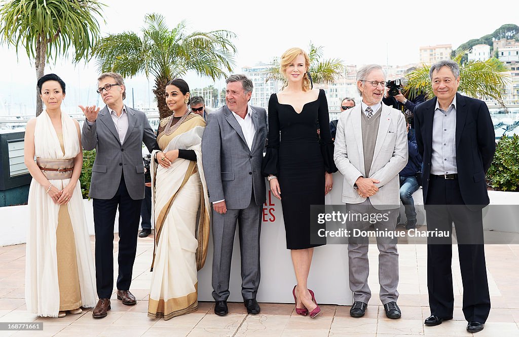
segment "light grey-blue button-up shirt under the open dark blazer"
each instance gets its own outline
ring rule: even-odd
[[[458,173],[456,164],[456,96],[447,111],[436,100],[432,122],[431,174]]]

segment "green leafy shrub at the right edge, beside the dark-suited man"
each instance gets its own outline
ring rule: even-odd
[[[487,172],[490,185],[499,191],[519,192],[519,136],[501,137]]]

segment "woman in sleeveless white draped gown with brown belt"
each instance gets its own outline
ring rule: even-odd
[[[48,74],[37,86],[45,111],[27,123],[24,142],[25,165],[33,177],[25,302],[31,313],[64,317],[95,305],[92,252],[77,184],[83,165],[81,134],[77,120],[61,112],[63,80]]]

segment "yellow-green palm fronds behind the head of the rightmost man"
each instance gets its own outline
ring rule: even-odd
[[[508,69],[501,61],[490,58],[486,61],[462,62],[467,50],[459,52],[453,61],[460,67],[460,82],[458,90],[470,97],[493,98],[504,107],[503,92],[509,77],[505,73]],[[429,65],[422,65],[406,75],[408,83],[404,90],[409,92],[409,97],[413,99],[419,92],[426,92],[427,98],[434,97],[432,92],[431,79],[429,78]]]

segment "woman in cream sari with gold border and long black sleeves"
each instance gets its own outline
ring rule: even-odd
[[[189,112],[189,96],[183,79],[166,85],[173,114],[160,121],[160,151],[154,151],[151,169],[155,252],[149,317],[170,319],[198,309],[197,271],[206,261],[210,205],[201,157],[206,122]]]

